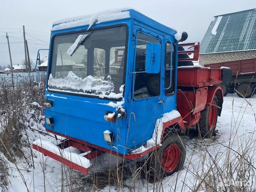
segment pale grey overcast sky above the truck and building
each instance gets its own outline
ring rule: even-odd
[[[21,64],[24,56],[22,26],[31,58],[39,48],[48,48],[55,20],[93,14],[116,8],[134,8],[154,20],[186,31],[186,42],[202,41],[213,16],[256,8],[256,0],[0,0],[0,65]]]

